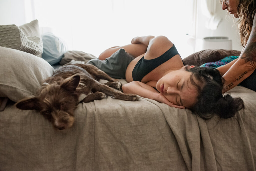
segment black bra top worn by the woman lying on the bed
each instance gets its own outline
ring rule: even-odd
[[[163,55],[155,59],[144,59],[144,56],[136,63],[132,71],[133,81],[141,81],[148,73],[154,70],[159,65],[165,63],[175,55],[179,55],[176,47],[173,46],[167,50]],[[183,62],[183,61],[182,61]],[[183,62],[184,65],[184,62]]]

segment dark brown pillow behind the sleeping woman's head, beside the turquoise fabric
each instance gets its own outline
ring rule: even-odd
[[[183,59],[185,65],[202,65],[207,62],[216,62],[227,56],[239,56],[241,51],[225,49],[201,50]]]

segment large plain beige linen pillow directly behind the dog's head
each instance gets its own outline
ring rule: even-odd
[[[54,72],[44,59],[6,47],[0,47],[0,61],[0,97],[15,102],[37,95],[42,82]]]

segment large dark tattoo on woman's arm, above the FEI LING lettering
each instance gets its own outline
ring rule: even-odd
[[[246,48],[243,51],[241,59],[244,59],[245,62],[251,62],[254,64],[256,62],[256,42],[250,42],[247,44]]]

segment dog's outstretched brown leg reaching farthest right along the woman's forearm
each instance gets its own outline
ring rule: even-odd
[[[99,82],[95,81],[95,84],[93,85],[92,91],[100,91],[105,93],[106,95],[113,96],[117,99],[126,100],[126,101],[138,101],[140,99],[140,96],[135,94],[125,94],[120,91],[117,91],[115,89],[110,88],[109,86],[105,84],[101,84]]]

